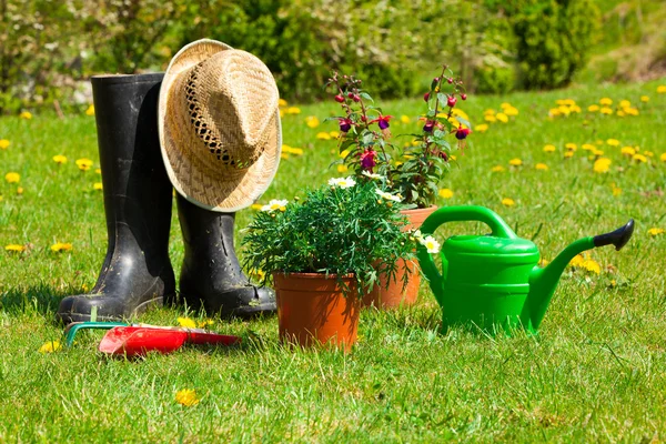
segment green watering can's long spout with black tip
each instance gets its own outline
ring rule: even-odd
[[[615,250],[620,250],[629,241],[633,233],[634,220],[632,219],[624,226],[610,233],[577,240],[564,249],[546,268],[535,266],[529,273],[528,304],[532,327],[534,330],[538,329],[559,278],[572,259],[597,246],[615,245]]]

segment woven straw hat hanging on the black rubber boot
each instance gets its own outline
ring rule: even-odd
[[[182,48],[160,89],[160,144],[175,190],[213,211],[250,206],[280,163],[278,87],[256,57],[214,40]]]

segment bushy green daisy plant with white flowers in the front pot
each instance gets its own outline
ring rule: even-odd
[[[414,259],[421,240],[403,230],[398,201],[381,180],[352,178],[331,179],[303,200],[273,200],[244,230],[244,265],[266,281],[272,273],[324,273],[342,282],[353,273],[359,292],[381,273],[395,281],[398,259]]]

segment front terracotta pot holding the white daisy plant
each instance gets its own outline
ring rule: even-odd
[[[361,300],[356,281],[343,278],[352,290],[345,296],[335,275],[274,273],[280,340],[302,346],[332,344],[345,352],[356,342]]]

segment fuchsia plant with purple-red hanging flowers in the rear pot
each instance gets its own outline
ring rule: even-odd
[[[326,83],[344,111],[344,115],[331,118],[339,121],[343,134],[341,162],[351,168],[359,180],[386,178],[406,208],[432,205],[451,168],[451,151],[463,149],[472,132],[470,122],[455,112],[458,98],[467,99],[463,81],[455,78],[448,67],[442,67],[441,74],[432,80],[430,91],[424,94],[426,110],[421,132],[403,134],[412,138],[406,148],[391,142],[389,128],[393,117],[374,104],[362,83],[353,75],[337,72]],[[401,161],[392,161],[392,158]]]

